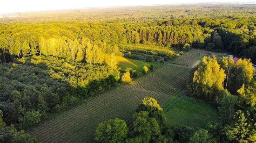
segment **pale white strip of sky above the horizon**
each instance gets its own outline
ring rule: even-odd
[[[46,11],[60,9],[80,9],[112,6],[157,5],[177,3],[204,3],[204,2],[250,2],[256,0],[1,0],[0,13]]]

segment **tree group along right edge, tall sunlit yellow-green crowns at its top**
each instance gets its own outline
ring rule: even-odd
[[[189,85],[190,94],[218,106],[219,122],[210,125],[212,134],[223,141],[255,141],[256,83],[250,60],[201,61]]]

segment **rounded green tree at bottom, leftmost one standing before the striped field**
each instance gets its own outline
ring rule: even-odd
[[[99,123],[96,128],[96,141],[123,142],[127,138],[128,128],[122,119],[110,119],[106,123]]]

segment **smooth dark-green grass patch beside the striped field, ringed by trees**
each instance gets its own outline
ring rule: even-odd
[[[167,101],[172,103],[178,99],[181,94]],[[164,106],[164,109],[167,106]],[[205,128],[209,121],[216,121],[218,118],[217,109],[203,101],[184,96],[179,99],[170,108],[165,110],[166,122],[169,126],[186,125],[192,128]]]

